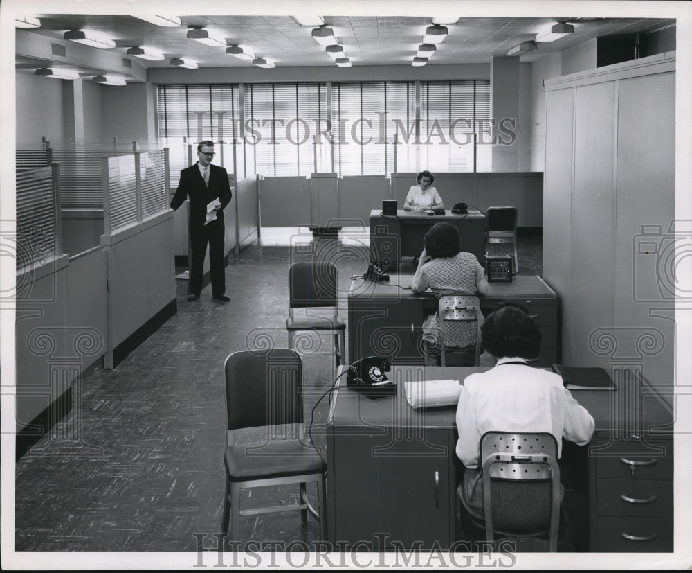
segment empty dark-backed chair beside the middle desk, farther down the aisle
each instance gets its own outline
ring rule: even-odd
[[[300,330],[334,333],[336,367],[346,362],[346,324],[337,315],[337,276],[334,263],[293,263],[289,267],[289,348]],[[334,315],[322,317],[307,314],[308,308],[334,308]],[[304,315],[293,315],[293,308],[305,308]]]

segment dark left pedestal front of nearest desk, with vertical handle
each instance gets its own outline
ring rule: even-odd
[[[334,441],[330,538],[375,550],[449,547],[456,507],[450,432],[373,430]]]

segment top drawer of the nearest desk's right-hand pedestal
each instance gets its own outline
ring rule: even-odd
[[[618,442],[610,451],[601,450],[590,453],[596,464],[598,479],[673,479],[673,442],[653,443],[657,452],[646,444],[637,442]]]

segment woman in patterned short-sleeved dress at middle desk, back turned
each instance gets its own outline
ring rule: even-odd
[[[488,293],[483,267],[475,255],[462,252],[457,227],[437,223],[430,227],[423,242],[425,248],[411,281],[413,292],[420,293],[430,288],[438,298],[445,294]],[[447,321],[443,328],[435,312],[423,323],[423,337],[426,342],[426,365],[438,366],[442,337],[444,346],[466,348],[475,344],[476,324],[473,321]]]

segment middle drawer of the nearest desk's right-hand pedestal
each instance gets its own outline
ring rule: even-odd
[[[653,479],[599,479],[599,515],[630,518],[672,518],[673,484]]]

